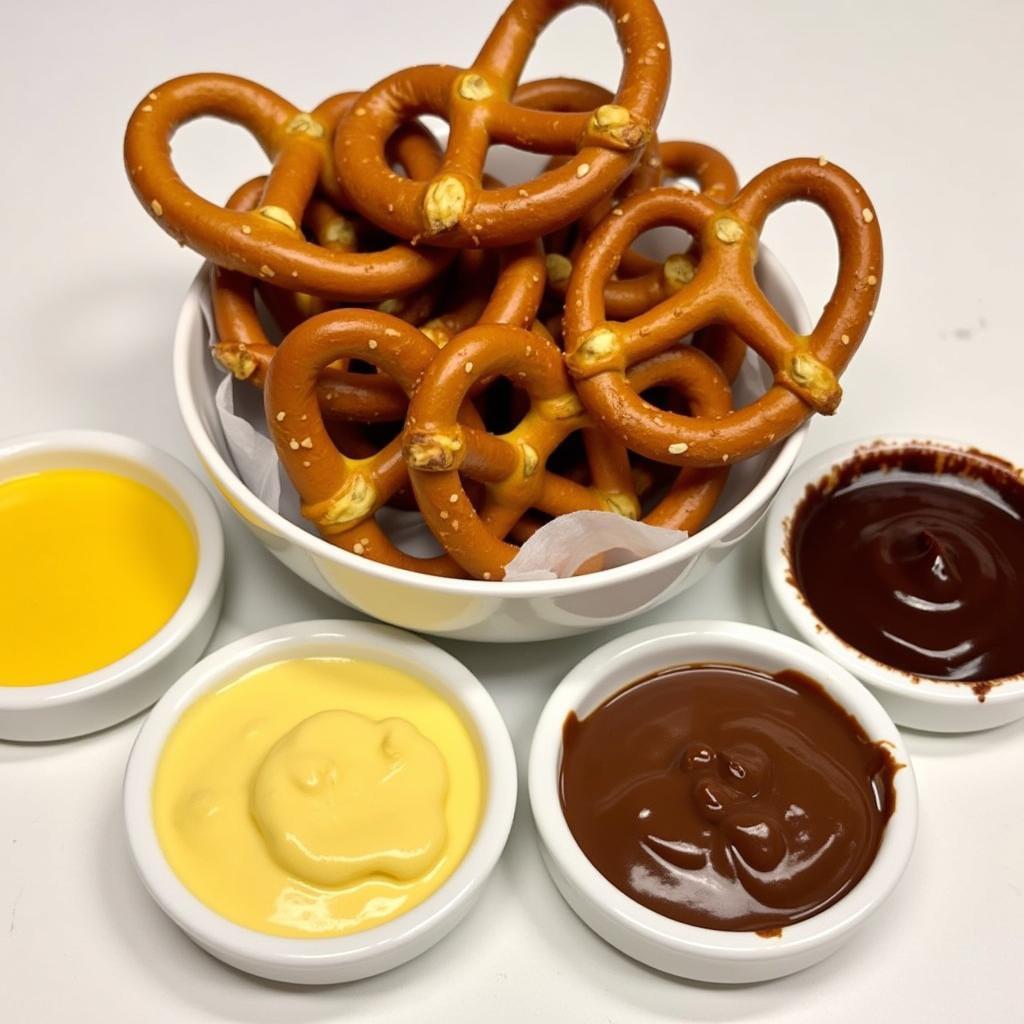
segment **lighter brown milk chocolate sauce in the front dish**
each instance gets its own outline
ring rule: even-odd
[[[569,716],[561,802],[583,852],[637,902],[772,936],[863,877],[897,768],[806,676],[681,666]]]

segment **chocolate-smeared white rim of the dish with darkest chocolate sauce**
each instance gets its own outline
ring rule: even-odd
[[[905,672],[879,662],[847,643],[818,618],[793,581],[788,545],[790,526],[797,509],[804,501],[807,488],[817,484],[833,469],[864,452],[907,447],[955,452],[979,459],[987,456],[1005,464],[1008,474],[1016,473],[1019,479],[1024,480],[1024,470],[1010,460],[994,453],[983,452],[965,441],[946,437],[882,434],[835,444],[801,463],[783,482],[769,509],[763,549],[765,585],[771,588],[777,607],[801,640],[816,647],[834,662],[838,662],[869,686],[924,703],[977,707],[978,697],[969,682],[957,683],[954,680],[918,676],[912,672]],[[997,706],[1024,699],[1024,673],[980,681],[992,684],[992,688],[985,694],[986,705]]]

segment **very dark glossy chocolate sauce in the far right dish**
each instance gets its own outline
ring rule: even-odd
[[[1024,483],[1001,461],[866,450],[809,488],[790,544],[811,608],[876,660],[981,698],[1024,671]]]

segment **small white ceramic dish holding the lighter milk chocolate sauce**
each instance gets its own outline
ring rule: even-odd
[[[896,808],[878,855],[857,885],[820,913],[766,939],[684,925],[630,899],[587,859],[562,814],[562,725],[583,718],[624,686],[658,670],[700,663],[793,669],[820,683],[876,741],[905,765],[896,772]],[[548,701],[529,753],[529,800],[548,870],[565,901],[598,935],[643,964],[696,981],[780,978],[816,964],[846,942],[892,892],[910,859],[918,825],[913,771],[899,733],[879,702],[853,678],[806,644],[739,623],[652,626],[618,637],[580,663]]]

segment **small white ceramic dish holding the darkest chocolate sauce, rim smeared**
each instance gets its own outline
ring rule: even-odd
[[[795,585],[790,562],[790,524],[807,488],[865,447],[928,446],[964,452],[970,445],[938,438],[886,436],[847,441],[803,463],[779,490],[765,527],[765,601],[775,626],[817,647],[871,688],[900,725],[931,732],[974,732],[1024,718],[1024,676],[997,681],[979,700],[970,684],[924,679],[862,654],[829,630]],[[1024,478],[1024,471],[1017,470]]]

